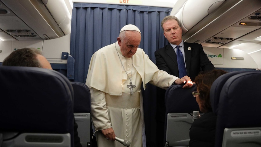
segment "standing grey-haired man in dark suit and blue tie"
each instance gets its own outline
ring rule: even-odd
[[[156,65],[160,70],[164,70],[170,75],[183,76],[179,73],[177,62],[177,46],[182,52],[185,63],[185,74],[190,77],[192,81],[198,73],[202,71],[210,71],[215,69],[213,64],[207,58],[203,51],[202,45],[198,43],[187,43],[182,40],[182,28],[180,21],[175,16],[166,16],[161,21],[161,27],[164,31],[164,36],[168,40],[168,44],[163,48],[155,51]],[[182,58],[182,56],[181,56]],[[157,88],[157,138],[158,147],[164,146],[164,120],[165,120],[165,97],[166,90]]]

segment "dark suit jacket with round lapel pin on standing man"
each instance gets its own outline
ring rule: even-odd
[[[188,50],[188,48],[191,50]],[[198,43],[184,42],[185,62],[187,68],[187,75],[192,81],[202,71],[210,71],[214,65],[209,61],[206,53],[203,51],[202,45]],[[155,51],[156,65],[160,70],[168,72],[170,75],[179,77],[177,55],[170,44]]]

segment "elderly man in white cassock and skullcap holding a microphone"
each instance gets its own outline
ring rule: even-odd
[[[115,136],[131,142],[130,147],[146,147],[141,84],[167,89],[170,85],[193,84],[188,76],[179,79],[159,70],[138,48],[141,33],[135,25],[125,25],[117,42],[107,45],[91,58],[86,85],[91,91],[91,118],[98,147],[123,147]]]

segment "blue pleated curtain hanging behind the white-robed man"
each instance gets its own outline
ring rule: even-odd
[[[71,56],[75,59],[74,81],[85,83],[91,56],[98,49],[117,41],[121,28],[136,25],[141,32],[140,48],[155,63],[154,52],[168,42],[161,20],[172,8],[74,3],[71,23]],[[156,143],[156,87],[147,84],[144,117],[147,147]]]

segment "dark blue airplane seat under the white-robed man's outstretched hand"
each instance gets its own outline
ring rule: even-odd
[[[188,146],[190,128],[193,123],[192,112],[200,111],[191,94],[197,90],[196,84],[183,89],[183,85],[171,85],[165,93],[165,147]]]

